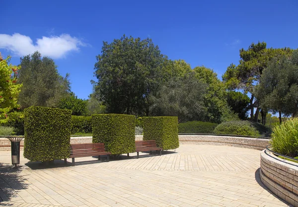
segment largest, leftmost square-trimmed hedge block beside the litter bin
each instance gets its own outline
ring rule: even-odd
[[[24,112],[24,157],[30,161],[68,158],[72,111],[31,106]]]

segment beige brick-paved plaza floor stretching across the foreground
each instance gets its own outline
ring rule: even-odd
[[[21,152],[22,153],[22,152]],[[15,207],[287,207],[259,178],[260,151],[180,144],[162,156],[75,159],[44,168],[0,151],[0,205]],[[71,159],[68,160],[71,162]]]

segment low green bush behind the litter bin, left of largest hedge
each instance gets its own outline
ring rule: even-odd
[[[5,127],[13,128],[15,135],[24,135],[24,113],[10,112],[7,114],[7,122],[1,124]]]

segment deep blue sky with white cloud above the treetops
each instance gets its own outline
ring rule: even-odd
[[[252,42],[298,48],[297,0],[12,0],[1,8],[2,55],[18,65],[20,56],[39,50],[60,74],[71,74],[72,91],[83,99],[92,92],[102,41],[123,34],[150,37],[169,59],[204,65],[219,77]]]

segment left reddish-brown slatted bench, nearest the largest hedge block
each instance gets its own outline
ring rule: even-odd
[[[81,144],[71,144],[71,154],[70,158],[75,157],[88,157],[88,156],[98,156],[100,160],[100,155],[107,155],[107,161],[109,161],[109,155],[111,152],[106,152],[104,148],[104,143],[81,143]],[[67,163],[67,159],[64,159],[64,162]]]

